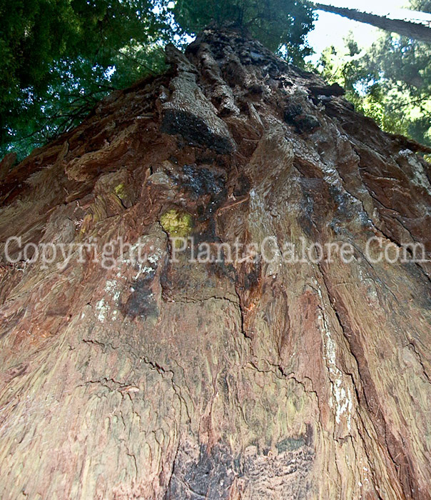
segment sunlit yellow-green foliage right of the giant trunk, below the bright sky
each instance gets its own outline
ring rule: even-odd
[[[343,51],[323,52],[320,71],[385,131],[431,145],[430,61],[431,47],[413,39],[384,34],[360,52],[350,36]]]

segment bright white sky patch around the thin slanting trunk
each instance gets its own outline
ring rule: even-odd
[[[320,0],[320,4],[358,9],[394,19],[431,20],[431,14],[402,9],[408,4],[408,0]],[[379,36],[379,30],[368,24],[350,21],[345,17],[323,11],[318,11],[318,15],[315,29],[308,35],[308,43],[316,52],[315,56],[308,58],[310,61],[318,61],[321,51],[328,46],[343,47],[343,38],[349,31],[353,31],[355,40],[364,48],[370,46]]]

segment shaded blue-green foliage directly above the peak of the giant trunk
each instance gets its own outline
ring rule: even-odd
[[[188,33],[196,33],[214,22],[230,23],[261,41],[268,49],[287,54],[303,64],[310,54],[305,36],[313,28],[310,4],[297,0],[178,0],[173,8],[176,22]]]

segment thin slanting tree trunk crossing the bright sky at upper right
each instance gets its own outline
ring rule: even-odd
[[[431,44],[431,28],[428,28],[424,24],[402,21],[402,19],[390,19],[385,16],[376,16],[375,14],[358,11],[357,9],[346,9],[345,7],[335,7],[333,5],[313,4],[313,6],[320,11],[339,14],[353,21],[371,24],[371,26],[384,29],[390,33],[397,33],[408,38],[425,41],[426,44]]]

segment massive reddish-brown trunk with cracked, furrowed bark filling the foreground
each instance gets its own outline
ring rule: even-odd
[[[1,498],[429,499],[431,269],[366,244],[430,258],[430,164],[234,32],[168,57],[4,171],[2,254],[88,247],[1,264]],[[286,264],[302,241],[353,262]]]

